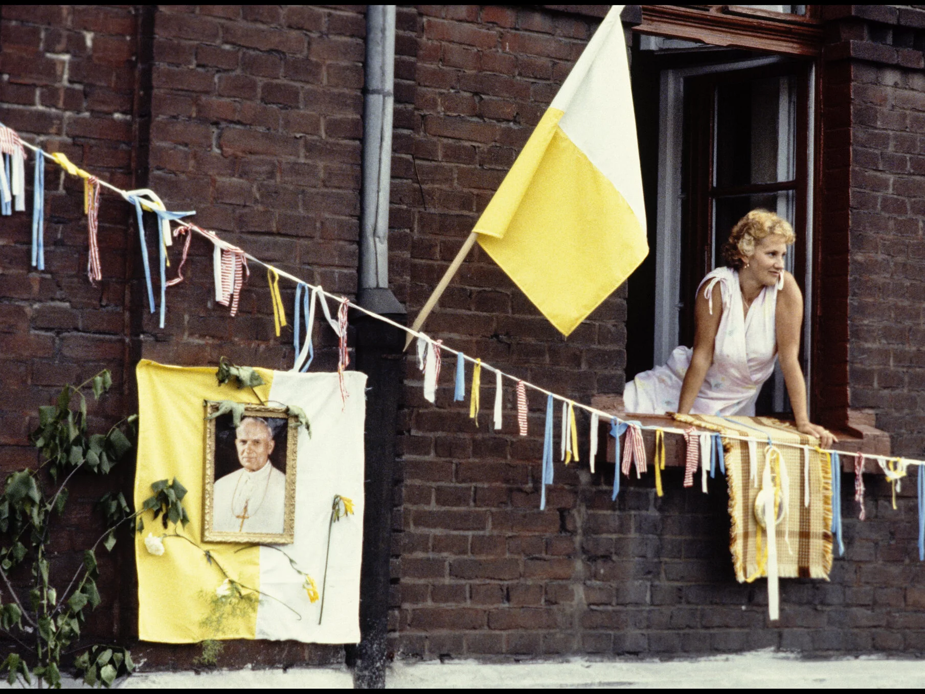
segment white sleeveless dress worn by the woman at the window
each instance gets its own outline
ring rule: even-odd
[[[781,280],[765,287],[743,316],[739,273],[731,267],[717,267],[697,287],[705,287],[710,313],[713,286],[719,283],[722,295],[722,318],[716,331],[713,364],[697,393],[691,413],[694,415],[755,415],[755,401],[761,386],[774,371],[777,360],[775,314]],[[663,415],[677,412],[681,386],[691,363],[690,347],[676,347],[665,366],[637,374],[623,390],[626,412],[640,415]]]

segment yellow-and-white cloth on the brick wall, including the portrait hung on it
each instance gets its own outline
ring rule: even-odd
[[[346,372],[342,399],[336,373],[253,371],[264,383],[252,389],[233,378],[219,385],[214,366],[138,366],[135,507],[152,485],[176,480],[189,515],[166,528],[152,510],[141,516],[135,559],[144,641],[360,639],[366,376]],[[228,414],[210,428],[206,401],[298,408],[311,433],[288,421],[295,410],[248,419],[254,410],[246,409],[238,427]],[[219,535],[206,540],[210,528]],[[262,538],[287,529],[290,539]]]

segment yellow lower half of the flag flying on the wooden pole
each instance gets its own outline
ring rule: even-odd
[[[561,118],[552,110],[543,128]],[[549,138],[541,130],[536,127],[475,231],[487,254],[568,335],[630,276],[648,242],[623,195],[561,128],[553,123]]]

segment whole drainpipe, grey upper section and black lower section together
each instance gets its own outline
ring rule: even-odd
[[[358,303],[405,322],[388,289],[388,192],[391,185],[395,6],[366,8],[363,218]],[[356,312],[356,368],[366,376],[363,564],[360,643],[347,647],[355,688],[386,684],[395,439],[404,375],[404,331]]]

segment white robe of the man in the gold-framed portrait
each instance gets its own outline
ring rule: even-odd
[[[213,529],[220,533],[282,533],[286,475],[269,462],[216,480]]]

